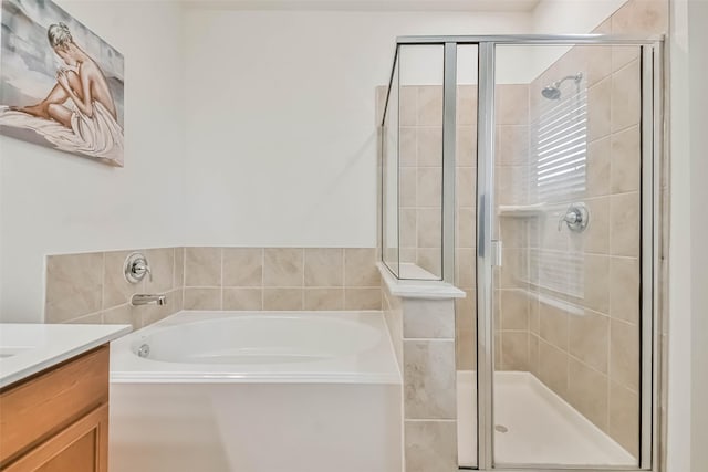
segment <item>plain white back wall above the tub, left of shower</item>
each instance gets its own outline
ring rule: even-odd
[[[373,247],[374,88],[395,36],[519,33],[528,20],[188,10],[187,244]]]

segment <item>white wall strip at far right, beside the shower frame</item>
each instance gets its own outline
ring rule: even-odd
[[[708,470],[706,24],[705,0],[671,2],[668,472]]]

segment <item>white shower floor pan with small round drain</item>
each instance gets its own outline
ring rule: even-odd
[[[457,373],[458,455],[477,464],[476,377]],[[494,463],[636,465],[636,459],[525,371],[494,375]]]

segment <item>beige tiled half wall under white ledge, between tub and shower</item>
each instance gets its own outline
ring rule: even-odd
[[[382,298],[403,374],[405,471],[456,470],[454,301],[402,298],[386,284]]]

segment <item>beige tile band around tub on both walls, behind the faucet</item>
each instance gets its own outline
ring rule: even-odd
[[[142,327],[180,310],[379,310],[375,249],[163,248],[139,250],[153,272],[123,275],[133,251],[50,255],[46,323]],[[164,293],[165,306],[131,306],[135,293]]]

